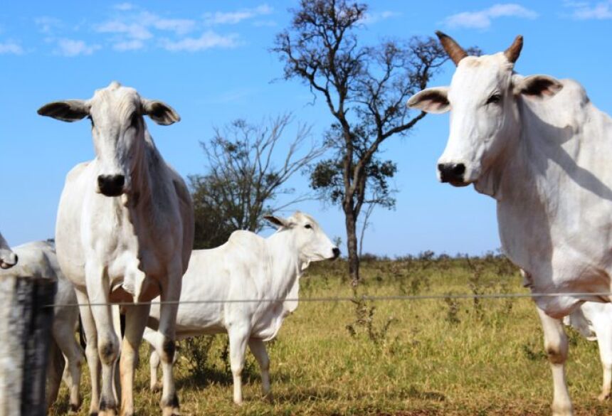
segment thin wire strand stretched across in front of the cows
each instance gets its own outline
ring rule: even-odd
[[[302,298],[264,298],[264,299],[202,299],[202,300],[178,300],[178,301],[152,301],[152,302],[94,302],[94,303],[67,303],[48,304],[43,307],[53,308],[60,306],[142,306],[145,304],[241,304],[241,303],[263,303],[263,302],[384,302],[384,301],[411,301],[411,300],[436,300],[436,299],[537,299],[552,297],[612,297],[612,292],[564,292],[564,293],[488,293],[488,294],[406,294],[406,295],[380,295],[380,296],[344,296],[344,297],[302,297]],[[602,301],[604,299],[601,299]]]

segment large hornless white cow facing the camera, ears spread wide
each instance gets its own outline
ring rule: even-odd
[[[120,358],[121,415],[134,413],[133,380],[148,305],[125,309],[120,345],[119,309],[109,302],[147,302],[161,294],[177,301],[194,239],[191,197],[183,179],[168,166],[144,123],[179,121],[163,102],[112,82],[90,100],[51,102],[38,114],[67,122],[88,117],[95,159],[68,174],[58,208],[56,246],[60,266],[75,285],[86,355],[92,375],[91,413],[115,415],[115,361]],[[101,305],[100,305],[101,304]],[[176,304],[164,304],[154,343],[162,351],[163,415],[178,413],[172,379]],[[99,362],[102,361],[102,391]]]

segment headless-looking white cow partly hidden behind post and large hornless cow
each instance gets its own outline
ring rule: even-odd
[[[83,351],[75,340],[75,326],[78,321],[78,307],[72,284],[63,276],[53,244],[45,241],[28,242],[13,248],[19,255],[19,263],[10,270],[11,274],[44,277],[58,282],[58,292],[54,302],[61,305],[53,308],[53,328],[51,329],[51,361],[48,371],[47,405],[56,400],[62,373],[70,390],[70,409],[78,410],[80,405],[79,383]],[[0,272],[1,274],[1,272]],[[58,351],[55,349],[58,348]],[[57,352],[57,354],[54,354]],[[54,356],[63,354],[60,368],[54,370]],[[64,366],[65,363],[65,366]]]

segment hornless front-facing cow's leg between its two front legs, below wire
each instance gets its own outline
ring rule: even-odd
[[[138,362],[138,347],[149,318],[150,304],[125,307],[125,334],[121,346],[121,415],[134,415],[134,370]]]

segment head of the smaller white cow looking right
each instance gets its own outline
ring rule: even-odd
[[[296,211],[286,219],[275,215],[265,215],[264,218],[278,227],[278,233],[287,233],[305,265],[311,261],[335,259],[340,255],[339,248],[310,215]]]

